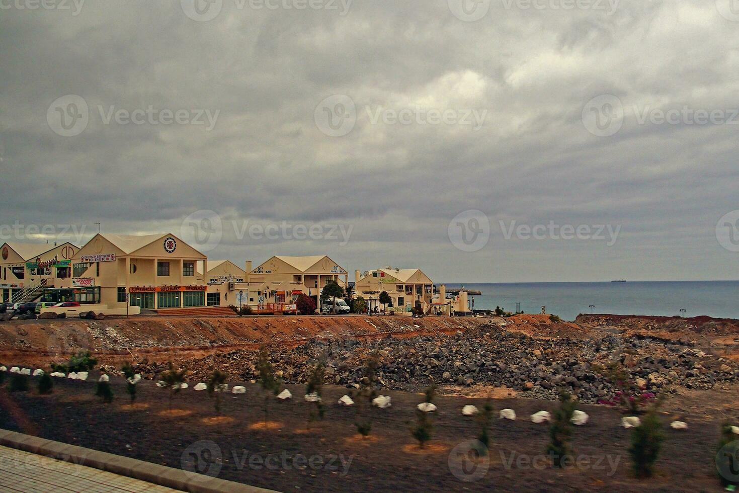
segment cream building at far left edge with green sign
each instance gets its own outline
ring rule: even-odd
[[[30,302],[45,287],[61,284],[72,275],[72,243],[6,242],[0,246],[0,293],[3,302]]]

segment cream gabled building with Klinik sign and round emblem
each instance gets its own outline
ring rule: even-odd
[[[128,299],[151,310],[205,306],[206,261],[174,234],[96,234],[72,258],[72,276],[44,290],[44,299],[109,307]]]

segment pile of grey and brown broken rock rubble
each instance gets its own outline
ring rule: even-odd
[[[271,349],[271,348],[270,348]],[[615,389],[599,365],[619,361],[647,390],[671,391],[674,386],[707,389],[739,381],[739,367],[701,350],[643,337],[621,339],[540,340],[497,327],[468,330],[454,336],[418,336],[378,341],[313,340],[291,349],[270,352],[278,375],[302,384],[316,361],[326,364],[326,383],[358,387],[364,363],[376,353],[384,387],[418,390],[428,384],[469,387],[485,384],[524,391],[531,398],[556,399],[559,389],[578,392],[581,401],[596,402]],[[236,350],[208,356],[188,365],[193,378],[214,369],[231,378],[258,378],[256,353]]]

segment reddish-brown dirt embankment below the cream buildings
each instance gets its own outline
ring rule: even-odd
[[[118,364],[132,354],[197,358],[224,350],[287,347],[309,339],[441,335],[468,330],[487,319],[411,319],[392,316],[132,317],[105,320],[27,320],[0,324],[0,361],[45,367],[78,350],[101,363]],[[151,356],[149,356],[151,357]]]

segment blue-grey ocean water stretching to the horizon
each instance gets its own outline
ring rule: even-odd
[[[447,288],[459,288],[447,284]],[[708,315],[739,319],[739,281],[681,282],[520,282],[465,284],[465,288],[480,290],[474,296],[475,310],[516,310],[521,304],[525,313],[554,313],[565,320],[574,320],[579,313],[614,315],[686,316]]]

